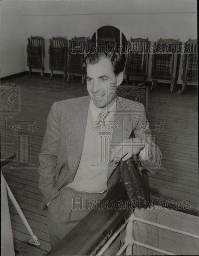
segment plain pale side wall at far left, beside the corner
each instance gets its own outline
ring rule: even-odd
[[[26,70],[21,4],[1,1],[1,77]]]

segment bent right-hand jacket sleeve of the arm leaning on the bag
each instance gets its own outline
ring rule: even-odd
[[[159,147],[152,141],[152,134],[143,104],[139,105],[139,111],[141,113],[141,117],[139,118],[133,133],[135,137],[141,137],[147,142],[147,147],[144,149],[148,150],[148,159],[140,159],[140,163],[143,168],[147,169],[151,173],[156,173],[158,172],[157,169],[161,165],[162,153]]]

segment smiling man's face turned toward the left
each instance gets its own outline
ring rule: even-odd
[[[107,105],[113,105],[118,82],[109,59],[102,58],[99,63],[87,64],[87,90],[96,107],[106,109]]]

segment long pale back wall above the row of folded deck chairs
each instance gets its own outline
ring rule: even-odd
[[[12,0],[8,1],[12,8]],[[17,1],[21,4],[24,52],[27,38],[46,39],[45,72],[48,69],[48,40],[52,36],[90,36],[111,25],[130,37],[197,38],[197,1],[98,0],[98,1]],[[25,54],[25,53],[24,53]],[[24,56],[26,59],[26,56]],[[26,61],[25,61],[26,62]],[[26,68],[28,70],[28,67]],[[16,72],[17,73],[17,72]],[[148,75],[150,79],[150,73]]]

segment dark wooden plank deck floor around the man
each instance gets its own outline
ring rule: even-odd
[[[34,121],[38,129],[31,132],[31,163],[38,165],[38,154],[46,128],[46,118],[55,101],[88,95],[86,87],[79,80],[65,84],[61,78],[49,77],[43,80],[33,74],[9,79],[9,85],[16,83],[21,87],[21,111],[3,112],[1,115],[1,142],[16,142],[17,131],[10,129],[13,121]],[[7,98],[2,95],[1,106]],[[13,109],[19,103],[13,101]],[[169,85],[160,85],[154,92],[148,91],[149,121],[162,121],[165,129],[158,133],[158,146],[163,153],[165,168],[157,175],[150,175],[151,187],[175,199],[190,199],[193,207],[198,203],[198,111],[197,88],[188,87],[183,94],[170,94]],[[14,116],[15,115],[15,116]],[[8,118],[9,117],[9,118]],[[7,118],[7,119],[6,119]],[[25,124],[25,123],[23,123]],[[23,127],[21,131],[25,131]],[[2,155],[18,152],[17,145],[1,146]],[[17,159],[19,155],[17,153]],[[12,163],[13,164],[13,163]],[[15,249],[21,255],[43,255],[50,250],[46,212],[40,210],[42,195],[38,189],[38,173],[30,164],[20,164],[18,168],[6,165],[3,175],[23,210],[41,246],[33,247],[27,243],[28,232],[15,208],[9,201]],[[36,167],[36,166],[34,166]]]

